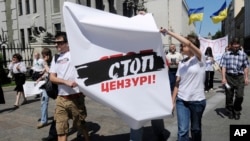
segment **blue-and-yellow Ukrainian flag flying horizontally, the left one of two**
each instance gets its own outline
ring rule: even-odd
[[[195,21],[202,21],[203,20],[203,11],[204,11],[204,7],[200,7],[197,9],[189,9],[188,10],[189,25]]]

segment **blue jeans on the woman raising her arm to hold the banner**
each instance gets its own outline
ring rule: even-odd
[[[201,118],[206,100],[184,101],[177,97],[176,112],[178,121],[178,141],[189,141],[189,122],[191,121],[192,141],[201,141]]]

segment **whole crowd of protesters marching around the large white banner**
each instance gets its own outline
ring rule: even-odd
[[[160,32],[172,36],[180,42],[180,53],[176,45],[171,44],[166,55],[170,89],[172,94],[173,111],[176,110],[178,123],[178,141],[188,141],[189,132],[193,141],[202,140],[202,116],[206,108],[206,93],[214,89],[214,55],[211,47],[207,47],[203,54],[199,39],[194,35],[183,37],[164,28]],[[69,120],[74,121],[74,128],[84,136],[85,141],[90,141],[85,119],[85,95],[80,92],[76,83],[76,69],[72,64],[66,32],[55,35],[55,44],[59,57],[55,60],[49,48],[44,48],[40,53],[35,53],[32,79],[39,82],[49,79],[58,85],[58,96],[55,100],[56,108],[54,120],[51,124],[49,136],[43,140],[66,141],[69,132]],[[237,38],[230,43],[230,48],[223,54],[219,62],[221,67],[222,85],[225,86],[225,108],[229,118],[239,120],[244,99],[244,86],[248,80],[248,56],[240,49]],[[22,56],[18,53],[12,57],[8,69],[15,77],[16,101],[15,108],[27,103],[24,96],[23,84],[27,71]],[[37,128],[42,128],[48,121],[49,97],[46,89],[41,88],[41,120]],[[0,102],[5,103],[2,88],[0,89]],[[21,104],[21,105],[22,105]],[[159,141],[166,141],[170,135],[164,127],[163,119],[152,120],[152,127]],[[191,127],[191,128],[190,128]],[[190,131],[189,131],[190,130]],[[130,130],[130,141],[142,141],[143,128]]]

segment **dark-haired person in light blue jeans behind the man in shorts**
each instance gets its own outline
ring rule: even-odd
[[[52,60],[52,53],[49,48],[44,48],[42,50],[42,57],[43,57],[43,68],[45,68],[45,72],[43,75],[36,80],[38,83],[41,80],[45,80],[49,76],[49,66]],[[47,125],[48,121],[48,104],[49,104],[49,97],[47,95],[47,92],[44,88],[41,89],[41,120],[40,123],[37,125],[37,128],[42,128],[45,125]]]

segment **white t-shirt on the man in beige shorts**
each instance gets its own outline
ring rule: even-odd
[[[75,80],[77,76],[77,72],[73,64],[71,63],[71,57],[70,53],[66,52],[64,54],[60,54],[58,57],[56,63],[55,58],[53,58],[51,62],[51,67],[49,72],[50,73],[56,73],[58,78],[64,79],[64,80]],[[79,93],[79,88],[74,87],[71,88],[66,85],[58,84],[58,95],[70,95]]]

